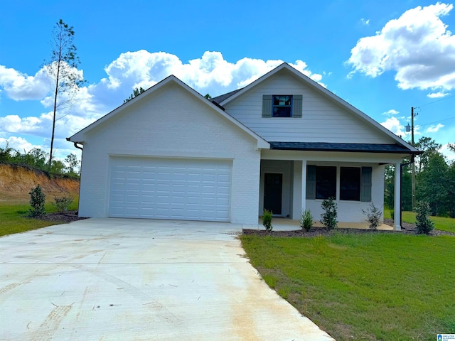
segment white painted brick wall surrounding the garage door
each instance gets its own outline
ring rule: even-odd
[[[230,222],[257,224],[257,140],[178,85],[169,83],[96,126],[82,153],[82,217],[109,215],[112,157],[194,158],[232,163]]]

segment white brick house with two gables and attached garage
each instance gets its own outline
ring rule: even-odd
[[[80,216],[242,224],[319,217],[327,197],[361,222],[387,164],[399,212],[400,162],[418,153],[286,63],[211,100],[167,77],[68,141],[83,146]]]

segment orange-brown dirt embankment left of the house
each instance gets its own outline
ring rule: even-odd
[[[0,163],[0,200],[28,200],[28,193],[38,184],[48,198],[79,195],[79,180],[50,178],[43,171]]]

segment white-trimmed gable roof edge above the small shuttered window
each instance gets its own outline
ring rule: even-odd
[[[327,90],[325,87],[319,85],[317,82],[314,80],[311,80],[310,77],[307,77],[303,73],[301,73],[299,70],[294,69],[294,67],[291,67],[291,65],[287,63],[282,63],[282,65],[279,65],[278,67],[274,68],[274,70],[271,70],[267,72],[265,75],[262,77],[259,77],[257,80],[254,82],[250,83],[250,85],[247,85],[246,87],[243,87],[242,89],[235,90],[232,92],[228,92],[227,94],[220,95],[218,97],[213,98],[213,101],[216,101],[221,107],[224,107],[225,104],[228,104],[229,102],[232,102],[235,100],[237,97],[242,96],[242,94],[245,94],[246,92],[250,91],[253,87],[257,87],[257,85],[261,84],[265,80],[269,79],[273,75],[276,75],[278,72],[290,72],[291,75],[294,75],[294,77],[298,78],[301,80],[301,82],[304,82],[306,85],[309,85],[312,87],[316,92],[319,92],[319,94],[322,94],[324,97],[330,99],[333,102],[336,102],[337,104],[341,105],[346,111],[350,112],[351,114],[359,117],[360,119],[367,121],[370,125],[374,126],[375,129],[378,129],[382,134],[385,134],[389,137],[391,137],[394,141],[395,144],[398,146],[403,146],[407,149],[407,152],[411,153],[419,153],[417,148],[414,148],[410,144],[408,144],[405,140],[401,139],[397,135],[393,134],[392,131],[388,130],[381,124],[379,124],[377,121],[369,117],[367,114],[364,112],[361,112],[359,109],[353,107],[353,105],[349,104],[346,102],[344,99],[341,99],[341,97],[338,97],[336,94],[333,94],[333,92]]]

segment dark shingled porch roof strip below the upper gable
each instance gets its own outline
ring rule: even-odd
[[[367,153],[413,153],[398,144],[331,144],[327,142],[270,142],[270,149],[284,151],[350,151]]]

